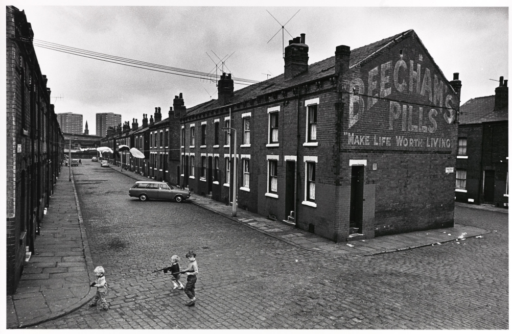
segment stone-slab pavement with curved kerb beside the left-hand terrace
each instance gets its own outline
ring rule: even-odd
[[[55,319],[89,302],[93,264],[74,182],[57,180],[35,254],[20,278],[16,293],[7,296],[7,328],[23,328]]]

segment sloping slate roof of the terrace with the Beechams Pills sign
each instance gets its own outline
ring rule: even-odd
[[[353,67],[365,59],[368,59],[372,55],[374,55],[377,51],[387,46],[388,43],[393,40],[406,36],[410,33],[414,33],[414,30],[410,29],[404,31],[402,33],[396,34],[394,36],[379,40],[377,42],[368,44],[367,46],[354,49],[350,54],[350,67]],[[334,61],[335,56],[329,57],[327,59],[315,62],[308,66],[308,71],[296,76],[295,78],[291,78],[285,80],[284,73],[276,76],[274,78],[270,78],[268,80],[252,84],[250,86],[244,87],[241,90],[234,91],[234,96],[231,99],[231,103],[239,103],[243,101],[248,101],[257,96],[261,96],[264,94],[272,93],[275,91],[283,90],[284,88],[293,87],[296,85],[303,84],[305,82],[315,81],[320,78],[325,78],[334,75]],[[210,100],[208,102],[204,102],[198,104],[196,106],[187,108],[186,115],[196,115],[206,110],[216,109],[222,107],[223,104],[218,100]]]

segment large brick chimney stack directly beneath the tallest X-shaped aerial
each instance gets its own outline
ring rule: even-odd
[[[285,80],[306,72],[309,60],[306,34],[290,39],[288,43],[285,48]]]

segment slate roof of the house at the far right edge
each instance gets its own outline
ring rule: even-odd
[[[460,124],[477,124],[508,120],[508,106],[494,110],[494,95],[471,99],[460,106]]]

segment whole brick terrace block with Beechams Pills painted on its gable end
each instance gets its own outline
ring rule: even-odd
[[[447,81],[413,30],[308,64],[305,34],[284,74],[181,118],[180,184],[335,241],[453,226],[461,82]],[[448,168],[447,168],[448,167]]]

